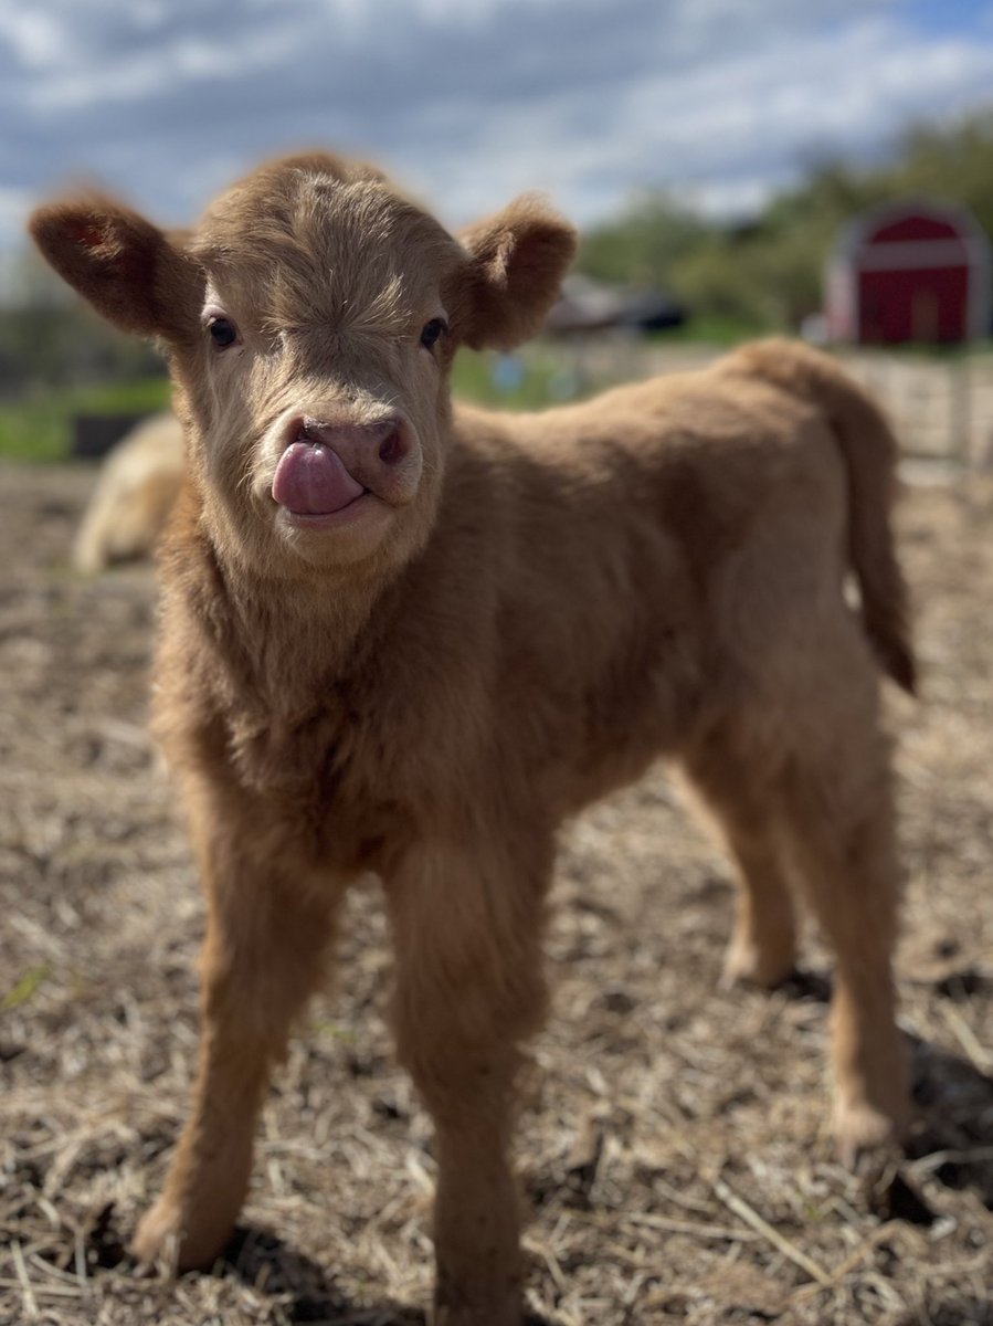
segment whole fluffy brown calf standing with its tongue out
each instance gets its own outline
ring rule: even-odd
[[[331,156],[263,167],[182,241],[102,199],[33,233],[164,342],[187,438],[155,727],[209,904],[203,1040],[138,1253],[224,1246],[269,1070],[374,871],[436,1126],[436,1321],[518,1323],[514,1075],[555,831],[659,756],[741,876],[727,976],[790,971],[801,890],[838,957],[838,1142],[899,1135],[895,446],[834,363],[770,341],[541,415],[452,411],[457,345],[533,332],[573,232],[524,200],[456,240]]]

